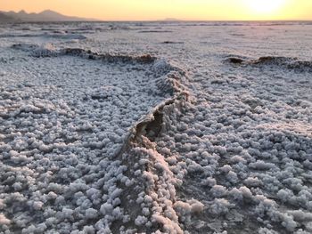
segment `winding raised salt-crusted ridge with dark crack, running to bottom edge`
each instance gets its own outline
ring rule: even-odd
[[[178,214],[175,209],[184,210],[189,206],[190,212],[200,212],[203,205],[194,200],[193,204],[189,205],[182,201],[177,201],[175,186],[177,179],[170,171],[169,165],[164,156],[156,149],[157,137],[161,133],[166,133],[166,116],[173,113],[173,109],[185,109],[188,102],[193,101],[185,85],[180,82],[182,79],[188,79],[186,73],[182,69],[171,66],[175,72],[168,73],[168,81],[174,90],[174,96],[167,101],[161,102],[156,106],[150,114],[143,117],[131,130],[123,147],[120,149],[116,157],[121,157],[121,161],[127,164],[128,168],[134,168],[133,172],[126,172],[127,175],[141,175],[139,179],[144,186],[144,190],[139,194],[134,206],[129,206],[122,202],[122,206],[127,210],[128,214],[135,214],[134,223],[127,225],[138,227],[138,230],[146,233],[184,233],[178,221]],[[152,177],[160,178],[160,182],[155,182]],[[166,179],[166,178],[171,179]],[[162,184],[161,184],[162,182]],[[181,182],[179,182],[181,183]],[[159,190],[168,190],[171,194],[170,198],[156,195]],[[134,187],[132,188],[134,189]],[[124,188],[124,190],[128,190]],[[163,191],[162,191],[163,192]],[[160,195],[160,193],[159,193]],[[125,199],[122,199],[124,201]],[[173,208],[175,204],[175,209]],[[167,210],[161,211],[164,207]],[[134,212],[135,211],[135,212]],[[170,215],[168,216],[168,212]],[[178,212],[179,213],[179,212]],[[118,228],[122,223],[114,223],[112,230],[121,231]]]

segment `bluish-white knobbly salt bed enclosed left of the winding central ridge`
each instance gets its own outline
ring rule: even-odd
[[[63,57],[31,44],[12,49],[1,92],[2,230],[110,233],[112,222],[136,218],[119,206],[135,178],[118,155],[135,122],[173,94],[169,65],[77,49]]]

